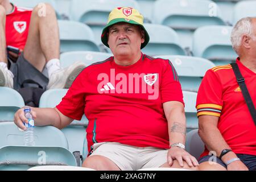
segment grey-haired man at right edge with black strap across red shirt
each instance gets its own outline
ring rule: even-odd
[[[255,106],[256,18],[239,20],[231,40],[239,56],[236,63]],[[199,135],[206,146],[200,169],[256,170],[256,126],[230,64],[207,71],[196,108]],[[209,155],[209,151],[217,157]]]

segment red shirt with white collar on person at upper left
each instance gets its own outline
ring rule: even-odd
[[[14,6],[14,11],[6,15],[6,46],[24,49],[30,27],[32,9]]]

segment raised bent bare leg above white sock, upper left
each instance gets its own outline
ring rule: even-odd
[[[44,65],[51,59],[60,57],[59,27],[55,10],[51,5],[44,7],[36,6],[31,14],[30,29],[24,57],[35,68],[42,72]],[[45,16],[40,15],[45,10]]]

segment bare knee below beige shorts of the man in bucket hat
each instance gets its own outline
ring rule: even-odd
[[[99,171],[120,171],[117,165],[112,160],[101,156],[93,155],[85,159],[82,167],[88,167]]]

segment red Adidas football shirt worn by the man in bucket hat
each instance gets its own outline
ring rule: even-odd
[[[123,67],[113,59],[85,68],[57,109],[77,120],[85,113],[89,152],[99,142],[169,148],[163,103],[184,104],[171,62],[142,54],[137,63]]]

